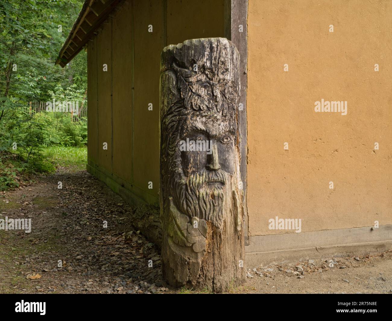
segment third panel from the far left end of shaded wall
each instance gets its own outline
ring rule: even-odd
[[[132,178],[132,7],[113,19],[113,174]]]

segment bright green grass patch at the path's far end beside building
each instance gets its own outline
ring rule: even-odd
[[[87,147],[50,146],[44,149],[44,155],[58,166],[85,169]]]

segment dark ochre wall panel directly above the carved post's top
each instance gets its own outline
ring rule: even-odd
[[[166,1],[167,45],[224,37],[224,0]]]

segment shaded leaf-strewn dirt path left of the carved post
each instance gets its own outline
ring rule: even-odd
[[[0,230],[0,293],[165,291],[159,253],[134,231],[130,210],[85,171],[6,193],[0,218],[31,218],[32,228]],[[42,277],[27,278],[36,274]]]

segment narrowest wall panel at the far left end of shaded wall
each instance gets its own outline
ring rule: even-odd
[[[97,39],[89,42],[87,47],[87,158],[98,163],[97,150]]]

